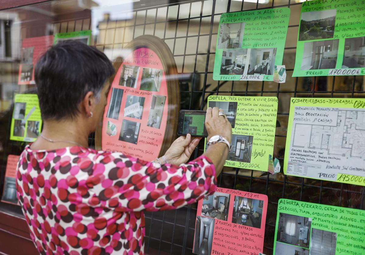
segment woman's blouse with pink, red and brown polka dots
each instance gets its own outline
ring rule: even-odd
[[[72,146],[31,150],[17,196],[41,254],[144,254],[143,211],[183,207],[215,191],[212,162],[173,166]]]

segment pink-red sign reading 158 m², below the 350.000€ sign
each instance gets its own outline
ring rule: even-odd
[[[264,248],[268,196],[217,188],[198,202],[193,252],[254,254]]]

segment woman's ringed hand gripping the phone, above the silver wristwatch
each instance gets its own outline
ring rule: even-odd
[[[205,129],[208,132],[209,140],[212,136],[219,135],[227,139],[228,142],[232,140],[232,126],[228,121],[226,115],[219,116],[218,113],[223,112],[222,109],[214,107],[213,109],[209,107],[207,109],[207,114],[205,115]]]

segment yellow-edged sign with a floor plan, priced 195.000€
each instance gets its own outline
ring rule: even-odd
[[[365,186],[365,99],[291,98],[284,173]]]

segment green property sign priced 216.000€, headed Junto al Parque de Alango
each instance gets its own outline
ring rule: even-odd
[[[283,62],[289,8],[223,13],[219,20],[213,79],[272,81]]]

